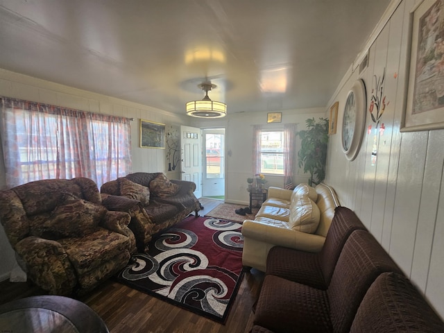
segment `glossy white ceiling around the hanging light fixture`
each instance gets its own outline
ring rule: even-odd
[[[0,67],[169,112],[325,107],[390,0],[0,0]]]

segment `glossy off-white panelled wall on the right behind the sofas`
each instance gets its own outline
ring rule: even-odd
[[[333,97],[332,101],[339,101],[338,134],[330,137],[326,182],[444,317],[444,130],[400,132],[410,53],[409,12],[416,2],[400,3],[368,50],[368,68],[361,75],[359,69],[350,71]],[[381,118],[385,127],[381,133],[375,132],[368,106],[375,79],[382,77],[384,69],[383,95],[389,103]],[[358,78],[366,84],[366,131],[359,155],[350,162],[341,150],[343,106]]]

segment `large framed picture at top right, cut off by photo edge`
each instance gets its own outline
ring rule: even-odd
[[[444,5],[420,1],[410,12],[411,49],[401,132],[444,128]]]

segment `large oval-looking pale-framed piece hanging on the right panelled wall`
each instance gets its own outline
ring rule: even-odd
[[[345,101],[342,122],[342,150],[348,160],[355,160],[366,125],[367,95],[364,81],[353,84]]]

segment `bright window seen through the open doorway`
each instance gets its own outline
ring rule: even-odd
[[[223,155],[223,134],[205,134],[205,160],[207,178],[224,178],[225,156]]]

